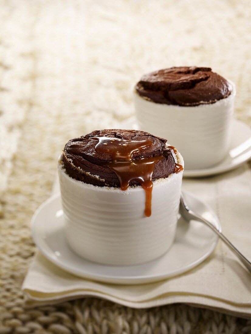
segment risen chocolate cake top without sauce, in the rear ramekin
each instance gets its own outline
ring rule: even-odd
[[[228,97],[232,85],[210,67],[171,67],[144,74],[136,85],[140,96],[168,105],[196,106]]]

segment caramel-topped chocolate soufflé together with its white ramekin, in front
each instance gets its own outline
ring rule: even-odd
[[[70,248],[119,266],[166,253],[177,227],[183,166],[174,147],[145,131],[96,130],[70,140],[58,159]]]

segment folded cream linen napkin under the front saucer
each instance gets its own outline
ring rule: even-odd
[[[222,230],[251,259],[251,169],[245,164],[211,178],[184,179],[183,189],[208,203]],[[59,191],[55,182],[53,193]],[[251,317],[251,275],[220,240],[213,254],[185,274],[161,282],[115,285],[85,280],[59,269],[41,253],[23,282],[27,306],[99,297],[134,308],[187,303]]]

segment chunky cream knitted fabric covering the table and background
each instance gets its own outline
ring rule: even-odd
[[[211,66],[236,83],[236,117],[251,124],[250,14],[249,0],[0,1],[0,334],[251,332],[250,321],[185,305],[85,299],[27,311],[20,292],[57,155],[131,116],[143,72]]]

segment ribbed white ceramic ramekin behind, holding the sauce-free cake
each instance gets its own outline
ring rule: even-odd
[[[134,90],[135,112],[140,130],[166,138],[180,152],[187,169],[210,168],[228,152],[234,112],[235,85],[226,98],[212,104],[183,107],[159,104]]]

